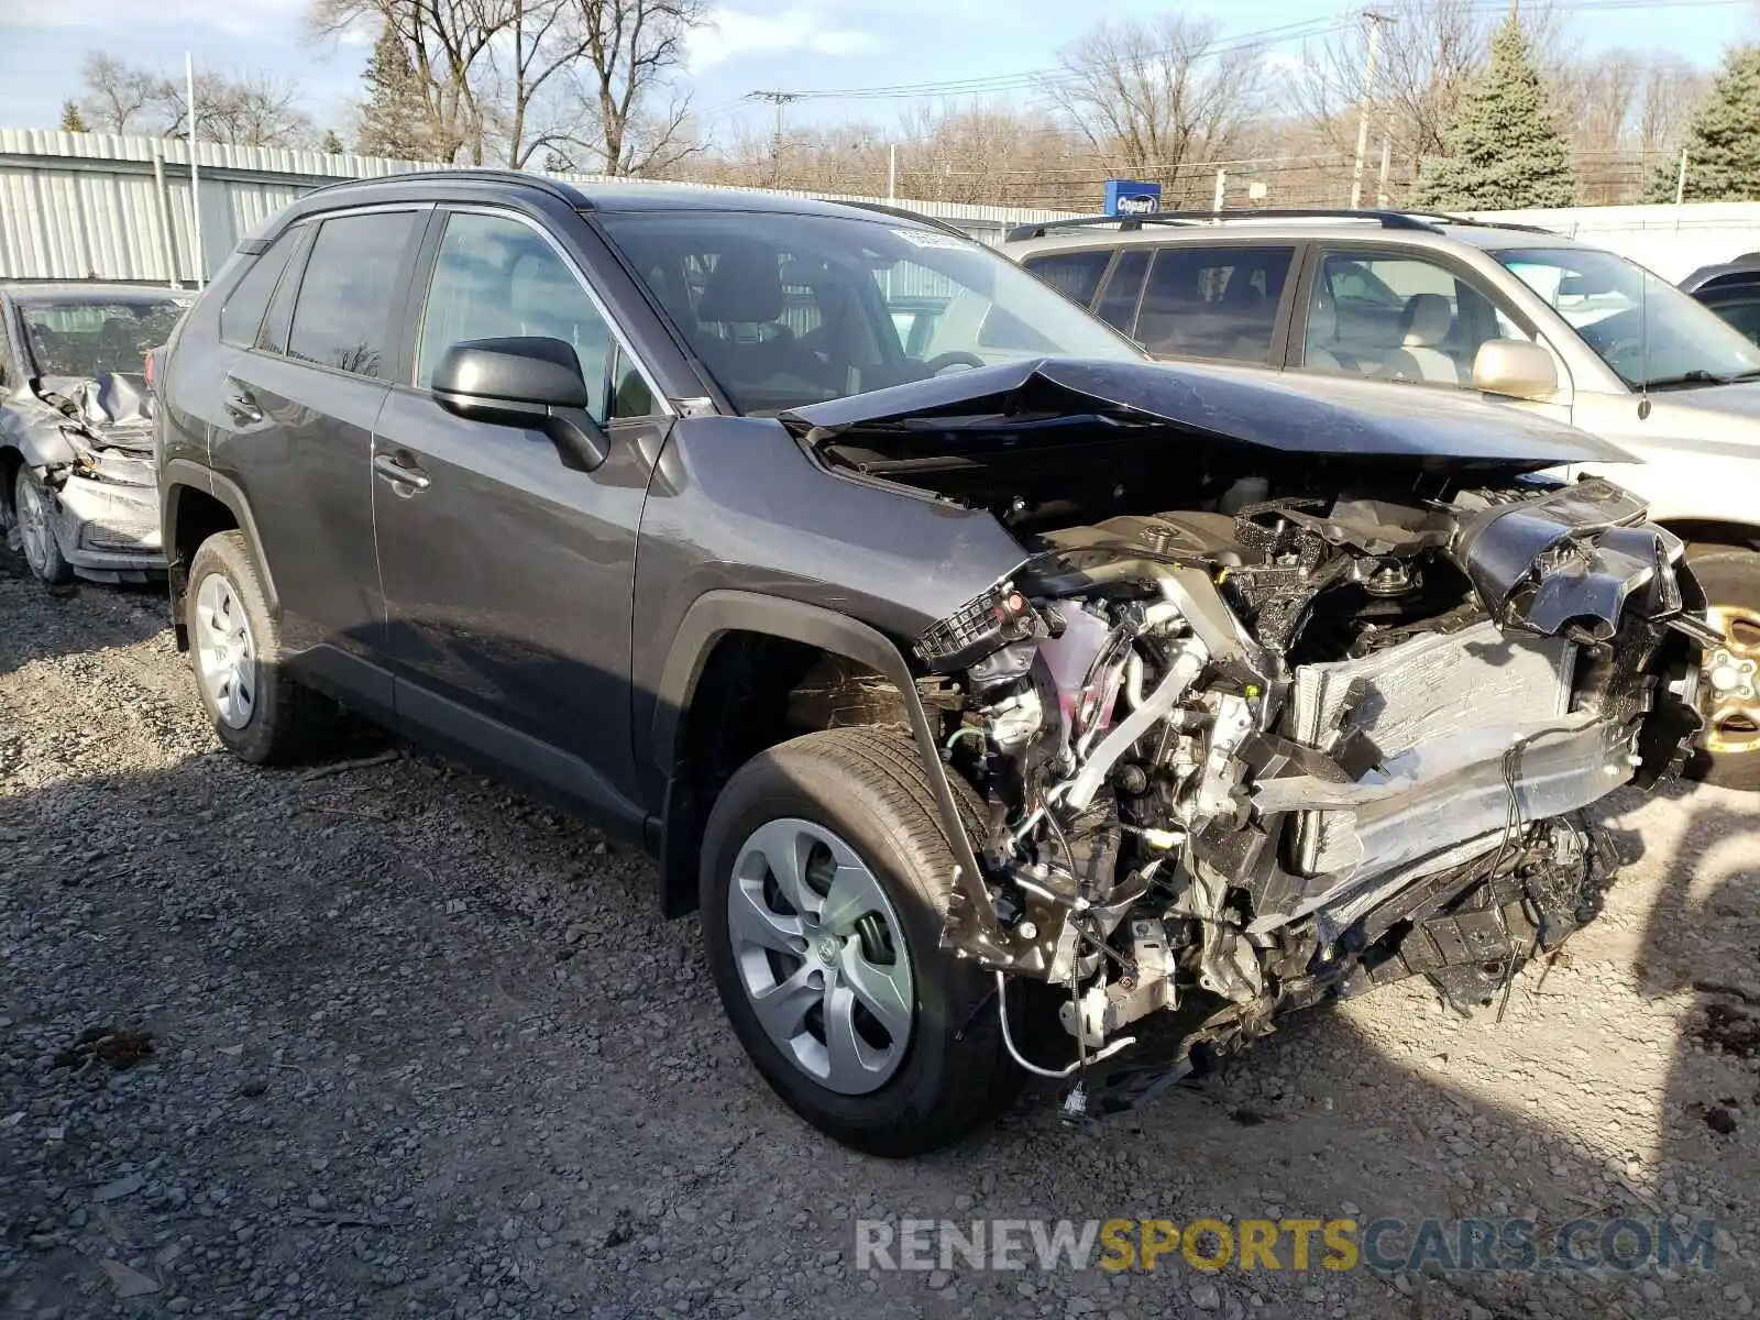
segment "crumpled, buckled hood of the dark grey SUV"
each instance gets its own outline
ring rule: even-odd
[[[1617,445],[1507,405],[1385,382],[1276,378],[1172,363],[1038,357],[852,394],[781,414],[811,440],[850,428],[1007,431],[1030,419],[1170,422],[1221,440],[1299,454],[1443,459],[1533,472],[1566,463],[1630,463]],[[818,431],[820,435],[811,435]],[[1065,431],[1067,436],[1067,431]]]

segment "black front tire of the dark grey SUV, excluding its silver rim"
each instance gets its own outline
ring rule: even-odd
[[[956,780],[972,827],[977,803]],[[912,1033],[891,1079],[866,1095],[820,1086],[759,1024],[734,963],[729,884],[743,843],[771,820],[801,818],[845,840],[905,928],[913,977]],[[722,790],[702,848],[702,931],[722,1005],[776,1095],[857,1151],[912,1156],[945,1146],[1014,1095],[1019,1068],[996,1019],[994,977],[940,949],[954,857],[917,744],[891,727],[796,737],[753,757]]]

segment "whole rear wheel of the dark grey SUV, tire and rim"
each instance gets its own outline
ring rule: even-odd
[[[241,532],[220,532],[195,551],[183,611],[195,686],[232,755],[271,766],[336,739],[336,706],[282,664],[282,630]]]

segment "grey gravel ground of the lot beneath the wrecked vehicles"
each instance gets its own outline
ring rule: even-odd
[[[1030,1091],[966,1146],[885,1163],[771,1098],[642,857],[426,755],[239,766],[162,623],[155,593],[51,597],[0,551],[0,1315],[1760,1301],[1760,797],[1614,799],[1609,912],[1501,1023],[1396,987],[1093,1137]],[[151,1052],[93,1060],[93,1028]],[[854,1269],[855,1218],[1626,1213],[1716,1218],[1716,1269]]]

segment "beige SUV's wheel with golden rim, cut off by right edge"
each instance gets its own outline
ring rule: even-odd
[[[1760,554],[1695,546],[1690,563],[1723,644],[1704,653],[1711,711],[1688,773],[1725,788],[1760,790]]]

